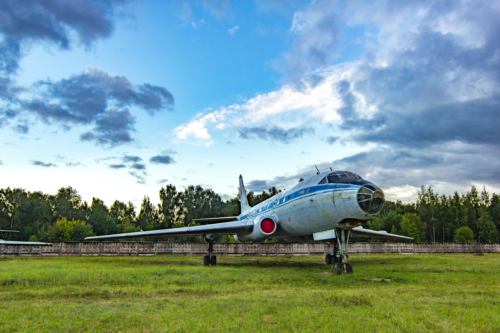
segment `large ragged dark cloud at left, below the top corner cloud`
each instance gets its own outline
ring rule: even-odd
[[[173,96],[163,87],[148,83],[133,86],[124,76],[111,76],[93,68],[56,82],[38,81],[34,86],[40,93],[23,101],[24,109],[46,122],[94,124],[80,139],[111,146],[132,140],[135,118],[124,106],[136,105],[149,113],[173,106]]]

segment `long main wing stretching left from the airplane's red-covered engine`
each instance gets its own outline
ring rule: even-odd
[[[253,221],[251,219],[244,219],[240,221],[196,225],[196,226],[188,226],[182,228],[117,233],[117,234],[108,234],[104,236],[85,237],[85,240],[106,240],[106,239],[120,239],[120,238],[160,238],[160,237],[203,235],[207,233],[234,234],[238,232],[249,233],[252,230],[253,230]]]

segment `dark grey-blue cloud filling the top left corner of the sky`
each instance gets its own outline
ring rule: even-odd
[[[71,35],[89,47],[114,28],[114,6],[122,0],[0,1],[0,72],[11,74],[22,56],[21,42],[47,41],[69,49]]]

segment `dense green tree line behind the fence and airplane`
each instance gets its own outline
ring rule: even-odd
[[[248,192],[248,203],[253,206],[280,191],[271,187],[261,193]],[[169,184],[161,187],[159,199],[160,203],[154,205],[144,196],[140,207],[131,201],[115,200],[107,207],[95,197],[90,204],[82,201],[71,186],[60,188],[55,195],[7,187],[0,189],[0,229],[20,231],[4,234],[3,239],[82,240],[92,235],[189,226],[194,225],[192,220],[195,218],[240,213],[239,197],[222,200],[212,189],[199,185],[177,191]],[[386,201],[380,214],[363,226],[410,236],[418,242],[496,242],[500,228],[500,195],[493,193],[490,196],[484,186],[478,193],[472,186],[465,194],[455,191],[446,196],[422,186],[416,202]],[[181,240],[196,241],[200,237]],[[233,241],[233,238],[222,236],[220,241]]]

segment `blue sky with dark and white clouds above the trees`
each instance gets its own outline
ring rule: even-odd
[[[0,187],[500,191],[499,1],[4,0]]]

